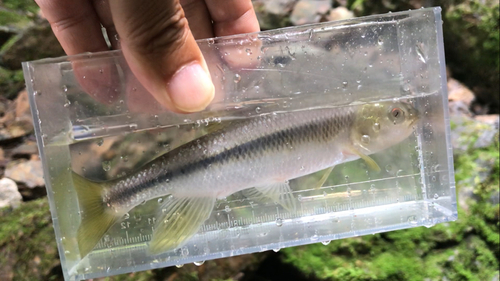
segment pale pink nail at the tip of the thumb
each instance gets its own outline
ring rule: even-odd
[[[173,105],[186,112],[205,109],[214,98],[214,91],[212,80],[198,63],[183,67],[167,83]]]

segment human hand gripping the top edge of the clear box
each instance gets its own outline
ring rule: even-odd
[[[259,31],[251,0],[35,1],[68,55],[108,50],[102,25],[142,86],[181,112],[202,110],[214,96],[195,40]],[[108,99],[109,93],[97,92],[97,99]]]

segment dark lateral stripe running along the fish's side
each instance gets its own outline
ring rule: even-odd
[[[198,169],[206,169],[215,163],[224,163],[225,161],[238,160],[243,155],[257,155],[258,152],[265,152],[270,149],[279,149],[286,146],[294,146],[302,142],[324,142],[336,137],[343,129],[348,129],[354,121],[355,115],[352,110],[342,110],[333,114],[330,118],[315,123],[306,123],[301,126],[287,128],[285,130],[275,131],[268,135],[260,136],[246,143],[236,145],[225,149],[214,155],[205,155],[196,161],[185,163],[182,166],[162,173],[154,179],[144,176],[137,184],[124,184],[123,188],[116,189],[115,192],[108,194],[107,202],[123,202],[127,198],[144,191],[154,188],[159,182],[173,181],[176,175],[185,175],[195,172]],[[255,122],[255,121],[254,121]],[[209,135],[205,137],[210,137]],[[177,149],[185,149],[181,146]],[[174,151],[168,152],[172,153]],[[178,152],[174,152],[178,153]]]

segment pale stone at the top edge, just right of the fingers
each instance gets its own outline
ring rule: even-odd
[[[321,15],[328,12],[331,5],[330,0],[301,0],[295,4],[292,14],[290,15],[290,21],[293,25],[317,23],[321,19]]]

